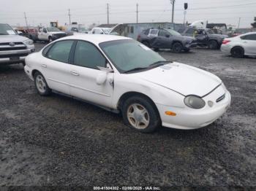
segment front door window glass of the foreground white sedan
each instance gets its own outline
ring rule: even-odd
[[[105,67],[106,59],[93,44],[78,41],[75,47],[74,63],[90,69],[98,69],[97,66]]]

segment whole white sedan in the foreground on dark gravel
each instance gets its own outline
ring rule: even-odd
[[[40,95],[55,92],[121,112],[144,133],[160,125],[195,129],[230,106],[230,93],[214,74],[166,61],[123,36],[81,34],[48,44],[24,68]]]

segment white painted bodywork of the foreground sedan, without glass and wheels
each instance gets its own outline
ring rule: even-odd
[[[105,55],[99,47],[101,42],[129,38],[81,34],[59,40],[64,39],[91,42]],[[106,55],[105,57],[108,59]],[[109,59],[108,62],[113,73],[107,74],[107,80],[102,85],[97,85],[97,77],[104,71],[52,61],[42,55],[42,50],[26,58],[24,70],[31,79],[32,71],[40,71],[53,90],[113,110],[118,109],[118,102],[125,93],[141,93],[154,102],[162,125],[169,128],[202,128],[217,120],[230,106],[230,93],[218,77],[207,71],[182,63],[169,63],[148,71],[121,74]],[[45,63],[48,65],[46,68],[42,67]],[[192,109],[184,104],[185,96],[192,94],[203,96],[206,102],[203,109]],[[225,98],[217,103],[217,99],[224,94]],[[208,106],[208,101],[213,101],[214,105]],[[168,116],[165,114],[166,111],[176,112],[177,115]]]

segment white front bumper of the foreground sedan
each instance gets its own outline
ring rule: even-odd
[[[214,101],[224,93],[225,98],[222,101],[219,101],[219,103],[214,102],[212,107],[208,106],[208,101]],[[227,90],[223,91],[222,88],[217,88],[217,93],[211,94],[203,98],[206,101],[206,106],[203,109],[177,108],[156,104],[162,120],[162,126],[191,130],[210,125],[227,111],[231,102],[231,95]],[[168,116],[165,114],[166,111],[175,112],[176,116]]]

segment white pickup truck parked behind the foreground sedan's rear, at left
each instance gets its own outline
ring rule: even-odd
[[[37,38],[39,41],[52,42],[53,40],[67,36],[63,31],[56,27],[43,27],[39,28]]]

